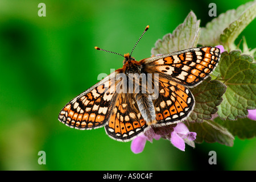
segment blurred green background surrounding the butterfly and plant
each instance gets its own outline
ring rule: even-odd
[[[46,17],[38,4],[46,4]],[[133,154],[130,142],[110,139],[104,128],[70,129],[57,120],[62,107],[98,82],[99,73],[122,67],[123,58],[94,49],[150,57],[156,40],[172,32],[193,10],[201,27],[209,3],[217,15],[248,1],[0,1],[1,170],[255,170],[256,139],[236,138],[233,147],[196,144],[179,151],[160,139]],[[254,20],[242,35],[255,47]],[[209,165],[209,151],[217,165]],[[38,152],[46,152],[46,165]]]

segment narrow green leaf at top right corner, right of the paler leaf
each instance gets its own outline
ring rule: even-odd
[[[220,35],[220,42],[225,47],[229,48],[229,44],[234,43],[238,35],[245,29],[245,27],[256,17],[256,3],[249,6],[239,18],[230,23],[228,28],[225,28]]]

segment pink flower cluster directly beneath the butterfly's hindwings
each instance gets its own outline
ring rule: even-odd
[[[144,134],[135,138],[131,142],[131,151],[134,154],[141,153],[144,150],[147,140],[152,143],[153,139],[160,138],[168,139],[171,143],[182,151],[185,151],[185,143],[189,146],[195,147],[193,140],[196,139],[195,132],[189,132],[184,123],[177,123],[175,125],[167,125],[162,127],[151,127],[151,129],[144,132]]]

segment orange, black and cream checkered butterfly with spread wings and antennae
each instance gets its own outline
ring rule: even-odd
[[[220,60],[217,47],[189,48],[140,61],[131,54],[121,55],[125,57],[122,68],[68,102],[59,121],[80,130],[105,127],[110,138],[122,142],[151,127],[182,122],[195,106],[189,88],[207,78]],[[150,84],[157,92],[148,89]]]

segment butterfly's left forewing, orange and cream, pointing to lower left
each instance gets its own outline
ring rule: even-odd
[[[115,103],[115,72],[63,107],[59,121],[80,130],[98,128],[108,121]]]

